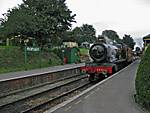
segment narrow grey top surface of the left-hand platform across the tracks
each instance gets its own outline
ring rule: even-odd
[[[52,73],[52,72],[63,71],[63,70],[68,70],[68,69],[74,69],[74,68],[78,68],[81,66],[85,66],[85,63],[66,64],[66,65],[53,66],[53,67],[48,67],[48,68],[4,73],[4,74],[0,74],[0,82],[6,81],[6,80],[17,79],[17,78],[28,77],[28,76],[34,76],[37,74]]]

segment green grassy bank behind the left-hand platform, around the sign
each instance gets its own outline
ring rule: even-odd
[[[42,51],[27,53],[27,64],[24,62],[24,50],[14,46],[0,46],[0,73],[35,69],[60,65],[60,58],[53,52]]]

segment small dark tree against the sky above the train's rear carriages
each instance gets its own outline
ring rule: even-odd
[[[122,41],[128,45],[130,48],[134,49],[134,46],[135,46],[135,42],[133,40],[133,38],[130,36],[130,35],[124,35]]]

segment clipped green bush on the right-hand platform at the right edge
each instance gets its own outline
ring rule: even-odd
[[[135,87],[138,103],[150,108],[150,46],[145,51],[138,67]]]

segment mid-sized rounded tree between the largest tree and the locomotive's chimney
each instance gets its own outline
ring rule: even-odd
[[[96,40],[96,30],[92,25],[83,24],[81,27],[74,28],[72,32],[79,45],[82,42],[93,43]]]

